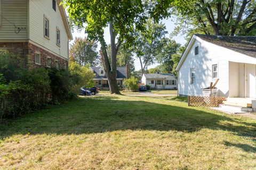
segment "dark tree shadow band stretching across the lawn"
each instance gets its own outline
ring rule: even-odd
[[[256,123],[211,112],[146,101],[85,97],[0,124],[0,137],[13,134],[88,134],[115,130],[195,132],[220,129],[255,140]]]

